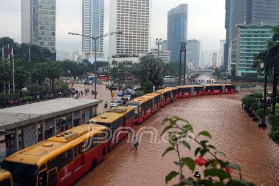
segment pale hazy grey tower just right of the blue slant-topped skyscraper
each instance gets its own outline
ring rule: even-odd
[[[193,68],[200,67],[200,42],[198,40],[187,41],[186,62],[192,62]]]

